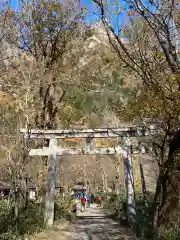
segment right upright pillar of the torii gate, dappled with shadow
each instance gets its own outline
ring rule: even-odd
[[[130,145],[129,138],[124,138],[123,158],[124,158],[124,174],[125,174],[125,185],[126,185],[126,194],[127,194],[127,217],[128,217],[128,221],[132,222],[134,221],[134,218],[136,216],[136,208],[135,208],[131,145]]]

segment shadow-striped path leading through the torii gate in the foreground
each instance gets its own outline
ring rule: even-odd
[[[133,234],[120,226],[119,222],[104,214],[103,209],[92,205],[85,213],[79,213],[74,224],[57,226],[56,229],[40,233],[36,240],[135,240]]]

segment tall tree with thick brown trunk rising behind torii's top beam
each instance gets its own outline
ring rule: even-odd
[[[35,121],[41,128],[55,128],[57,105],[67,88],[58,86],[57,77],[66,61],[65,56],[72,49],[73,40],[81,35],[83,9],[78,2],[61,4],[56,0],[29,4],[22,1],[20,6],[20,48],[45,64],[44,77],[39,85],[42,110]]]

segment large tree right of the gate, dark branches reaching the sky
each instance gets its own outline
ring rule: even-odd
[[[136,107],[139,104],[140,110],[136,114],[145,126],[143,120],[145,117],[156,119],[159,123],[160,134],[152,138],[160,167],[155,194],[156,229],[169,223],[179,201],[178,188],[175,190],[172,187],[177,181],[177,178],[173,177],[173,172],[179,176],[179,170],[171,154],[174,152],[177,138],[169,145],[177,131],[180,115],[178,107],[180,65],[179,49],[176,45],[179,38],[179,23],[176,17],[178,2],[115,1],[114,9],[109,8],[108,1],[93,0],[93,2],[100,10],[109,42],[120,61],[124,63],[124,67],[133,71],[142,83],[139,95],[135,97]],[[126,16],[128,22],[124,27],[119,24],[122,16]],[[114,20],[117,20],[117,25],[114,24]],[[132,113],[135,108],[132,105],[131,107],[129,110]],[[169,156],[166,154],[168,148]]]

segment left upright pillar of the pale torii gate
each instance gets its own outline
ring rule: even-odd
[[[57,139],[51,138],[49,141],[48,156],[48,182],[45,197],[44,223],[46,227],[52,227],[54,223],[54,196],[56,184],[56,148]]]

